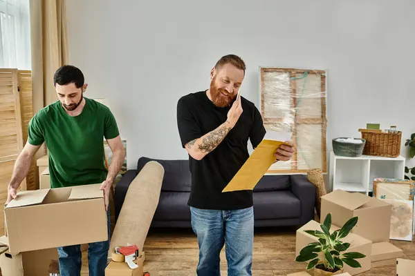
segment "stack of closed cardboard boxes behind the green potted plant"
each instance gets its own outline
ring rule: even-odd
[[[356,275],[378,266],[396,264],[396,259],[403,257],[403,250],[389,243],[391,224],[391,205],[375,197],[361,193],[349,193],[334,190],[321,197],[321,219],[331,213],[331,230],[341,228],[351,217],[359,217],[358,224],[343,239],[351,244],[349,251],[357,251],[367,257],[359,259],[362,268],[344,265],[344,273]],[[317,238],[304,230],[321,230],[320,223],[309,221],[297,230],[295,255]]]

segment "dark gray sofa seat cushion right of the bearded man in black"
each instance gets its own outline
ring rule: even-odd
[[[301,203],[291,191],[254,193],[255,219],[291,219],[300,217]]]

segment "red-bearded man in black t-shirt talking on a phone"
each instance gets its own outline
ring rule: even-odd
[[[188,204],[199,243],[199,276],[220,275],[224,244],[228,275],[251,275],[252,190],[221,193],[248,159],[248,140],[256,148],[266,133],[255,105],[237,97],[245,70],[240,57],[224,56],[210,72],[210,89],[185,95],[177,103],[178,132],[192,173]],[[293,146],[280,146],[276,161],[288,161],[293,151]]]

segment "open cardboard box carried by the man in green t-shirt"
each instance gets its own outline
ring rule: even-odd
[[[100,185],[19,192],[4,208],[10,252],[107,240]]]

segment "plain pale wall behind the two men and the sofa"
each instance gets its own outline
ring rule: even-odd
[[[141,156],[187,158],[176,102],[208,88],[228,53],[246,61],[243,95],[257,106],[259,66],[326,69],[329,150],[367,122],[395,124],[403,144],[415,132],[415,1],[66,3],[70,61],[86,76],[86,97],[109,99],[129,168]]]

